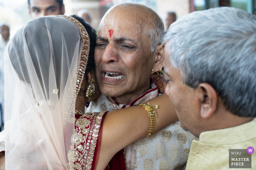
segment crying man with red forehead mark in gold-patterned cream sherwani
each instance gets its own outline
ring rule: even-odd
[[[119,4],[106,13],[95,47],[95,72],[104,95],[87,112],[130,107],[158,95],[150,75],[162,66],[163,34],[162,20],[144,5]],[[127,170],[175,169],[187,162],[192,138],[175,122],[127,146],[114,158],[123,157]]]

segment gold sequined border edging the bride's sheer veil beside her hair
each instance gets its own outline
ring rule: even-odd
[[[77,98],[78,93],[81,88],[81,84],[83,82],[84,73],[85,73],[84,71],[86,69],[87,59],[88,59],[88,55],[89,55],[89,51],[90,51],[90,37],[89,37],[86,29],[84,28],[83,24],[81,24],[74,17],[66,16],[66,15],[56,15],[56,16],[61,16],[61,17],[67,18],[70,21],[72,21],[72,23],[74,23],[78,27],[78,29],[81,33],[82,50],[81,50],[81,59],[80,59],[80,65],[79,65],[79,70],[78,70],[78,76],[77,76],[77,80],[76,80],[76,98]]]

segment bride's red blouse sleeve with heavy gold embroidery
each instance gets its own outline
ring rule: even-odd
[[[74,169],[94,170],[101,148],[102,124],[108,111],[75,115]]]

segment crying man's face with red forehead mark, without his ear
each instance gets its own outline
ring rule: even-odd
[[[149,84],[154,57],[144,33],[150,22],[142,13],[114,8],[102,19],[94,56],[97,80],[107,96],[133,93]]]

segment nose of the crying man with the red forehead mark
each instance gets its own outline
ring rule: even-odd
[[[106,46],[102,55],[102,61],[105,63],[118,62],[118,53],[114,44],[109,43]]]

